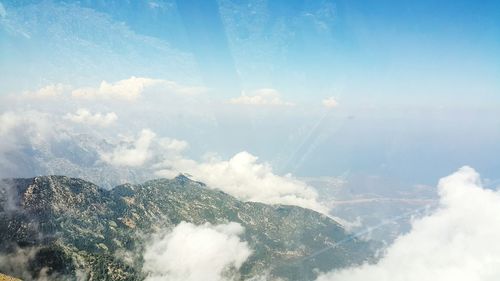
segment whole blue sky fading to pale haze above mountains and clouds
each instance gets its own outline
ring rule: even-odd
[[[498,1],[0,3],[2,112],[90,109],[299,177],[500,178]]]

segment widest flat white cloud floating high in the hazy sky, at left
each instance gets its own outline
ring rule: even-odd
[[[128,100],[133,101],[141,97],[142,93],[150,87],[158,86],[177,94],[194,95],[204,92],[203,87],[182,86],[173,81],[151,79],[145,77],[130,77],[115,83],[102,81],[98,88],[79,88],[72,91],[74,98]]]

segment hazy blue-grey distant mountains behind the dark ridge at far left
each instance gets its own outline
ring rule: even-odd
[[[147,169],[115,167],[100,159],[100,153],[113,149],[106,139],[90,134],[74,134],[65,130],[58,138],[30,136],[17,138],[16,149],[2,155],[0,175],[34,177],[66,175],[78,177],[110,189],[125,182],[140,183],[154,178]]]

